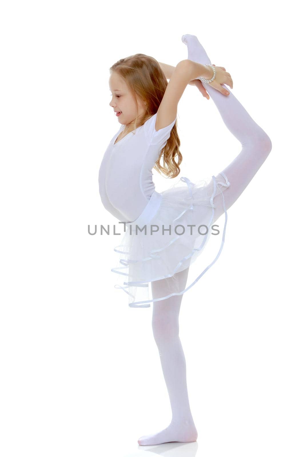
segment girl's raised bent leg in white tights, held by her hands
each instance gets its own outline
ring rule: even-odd
[[[211,64],[206,51],[195,35],[183,35],[182,42],[187,45],[188,59],[202,65]],[[245,190],[257,170],[267,159],[272,149],[272,143],[267,133],[254,122],[228,87],[222,84],[230,92],[228,96],[225,96],[209,83],[203,82],[203,85],[214,101],[226,127],[240,141],[242,146],[240,154],[223,170],[230,182],[230,186],[224,192],[225,207],[228,209]],[[220,174],[215,178],[224,181]],[[224,213],[220,193],[214,197],[214,204],[214,221],[216,221]]]

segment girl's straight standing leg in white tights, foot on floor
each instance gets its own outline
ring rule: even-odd
[[[187,283],[188,268],[176,273],[180,290]],[[166,279],[151,283],[153,298],[171,293],[171,282]],[[153,305],[152,328],[167,392],[171,402],[172,419],[170,425],[158,433],[139,438],[141,445],[161,444],[170,441],[189,442],[197,440],[197,430],[193,421],[188,393],[186,362],[179,338],[179,311],[182,295],[174,295]]]

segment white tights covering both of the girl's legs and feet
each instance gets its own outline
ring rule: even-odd
[[[211,64],[211,61],[194,35],[183,35],[182,42],[187,45],[188,59],[200,64]],[[268,157],[272,144],[268,135],[257,125],[245,108],[230,92],[225,96],[207,83],[203,83],[209,96],[219,110],[226,127],[237,138],[242,146],[241,152],[223,170],[230,186],[225,190],[225,206],[230,208],[245,190],[257,170]],[[222,178],[219,174],[216,178]],[[222,195],[214,197],[215,221],[224,213]],[[185,288],[188,269],[176,273],[176,277]],[[166,280],[151,283],[153,298],[169,295],[171,291]],[[169,441],[196,441],[197,430],[193,422],[187,393],[186,362],[179,338],[179,311],[183,295],[174,295],[165,300],[153,303],[152,329],[167,391],[171,403],[172,420],[165,429],[152,435],[141,436],[141,445],[160,444]]]

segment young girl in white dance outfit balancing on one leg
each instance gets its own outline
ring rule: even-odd
[[[160,64],[144,54],[122,58],[111,67],[110,106],[121,128],[110,141],[99,171],[102,203],[125,232],[114,249],[119,266],[112,271],[123,277],[123,286],[116,287],[128,294],[130,307],[154,303],[153,334],[171,402],[170,425],[139,438],[141,445],[197,440],[179,339],[182,296],[219,257],[226,209],[241,195],[272,148],[268,135],[224,86],[233,88],[230,73],[211,65],[194,35],[183,35],[182,42],[187,45],[187,59],[177,64],[168,83]],[[209,90],[206,96],[211,96],[226,127],[240,141],[241,152],[209,181],[193,183],[182,177],[159,193],[152,169],[169,179],[179,175],[182,155],[177,106],[186,86],[198,84],[195,80],[201,81],[204,95]],[[219,252],[199,276],[192,277],[190,266],[203,252],[212,231],[219,234],[214,223],[224,212]]]

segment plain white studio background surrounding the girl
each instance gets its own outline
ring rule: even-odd
[[[5,1],[0,17],[1,455],[304,456],[297,3]],[[134,53],[176,65],[187,58],[186,33],[230,72],[273,149],[228,211],[219,260],[182,300],[198,440],[148,448],[139,436],[171,420],[152,307],[128,307],[110,271],[118,237],[87,228],[117,223],[98,190],[119,128],[109,68]],[[180,176],[191,181],[241,150],[195,87],[177,124]],[[155,171],[154,180],[157,191],[169,185]]]

